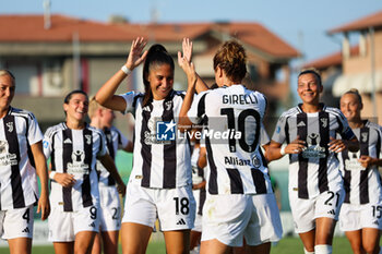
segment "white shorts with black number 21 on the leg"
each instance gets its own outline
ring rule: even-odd
[[[332,218],[338,220],[341,205],[345,198],[343,189],[336,192],[326,191],[314,198],[298,197],[297,191],[289,191],[289,204],[295,222],[295,231],[305,233],[315,228],[317,218]]]

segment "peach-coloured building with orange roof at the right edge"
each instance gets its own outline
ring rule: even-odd
[[[382,124],[382,11],[332,28],[327,34],[342,35],[342,52],[305,65],[317,66],[324,73],[324,85],[332,88],[336,101],[345,92],[357,88],[363,100],[362,117]],[[351,36],[358,38],[353,46]],[[333,72],[336,77],[327,81]]]

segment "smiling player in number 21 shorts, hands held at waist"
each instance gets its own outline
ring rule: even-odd
[[[276,125],[266,157],[289,155],[289,202],[306,253],[332,253],[335,222],[344,199],[336,153],[358,148],[357,137],[338,109],[320,104],[323,87],[314,69],[298,75],[302,100],[284,112]],[[336,134],[341,140],[335,140]],[[282,146],[286,142],[286,146]]]

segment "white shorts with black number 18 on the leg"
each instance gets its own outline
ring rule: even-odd
[[[195,199],[191,185],[148,189],[130,182],[122,223],[134,222],[154,228],[157,218],[162,231],[192,229],[195,219]]]

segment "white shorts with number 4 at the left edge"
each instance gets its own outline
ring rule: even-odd
[[[33,238],[33,205],[20,209],[0,210],[2,239]]]

